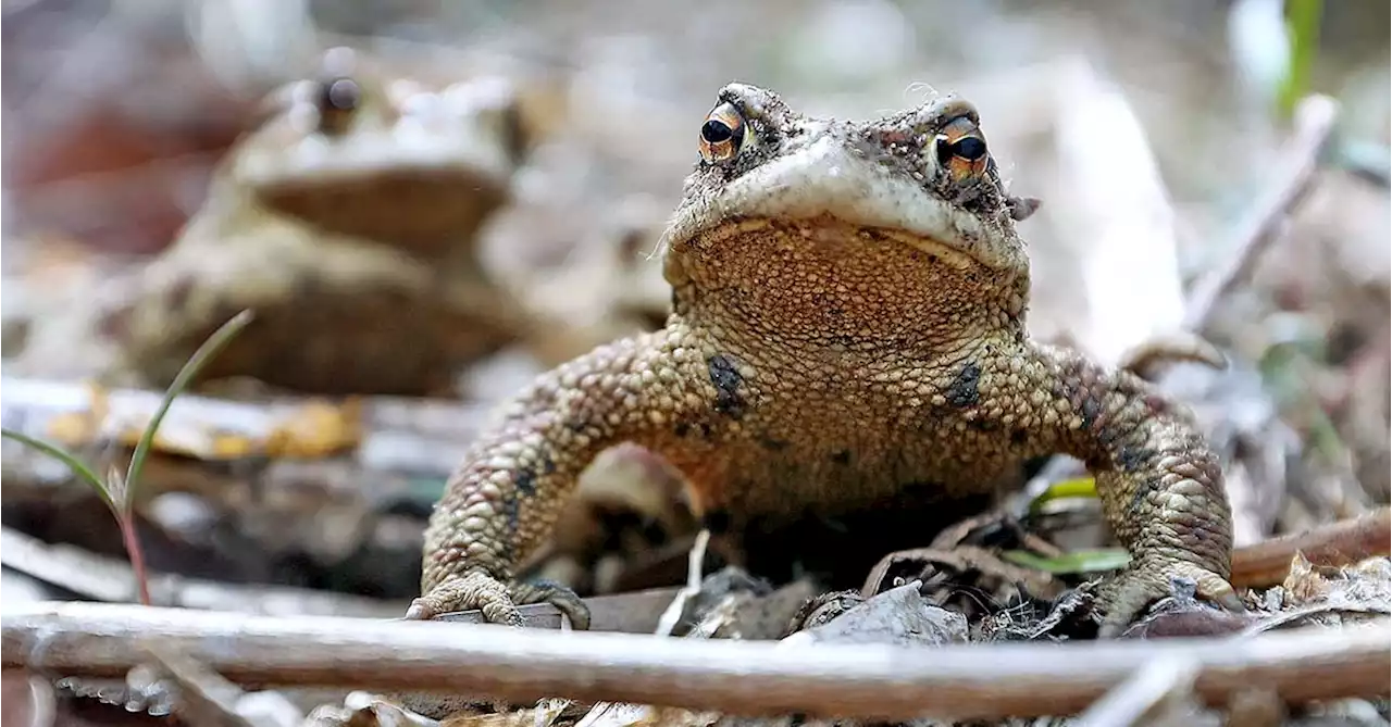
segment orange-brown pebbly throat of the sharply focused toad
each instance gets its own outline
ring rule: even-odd
[[[998,327],[1015,284],[952,245],[830,215],[713,227],[674,243],[668,278],[721,329],[864,350]]]

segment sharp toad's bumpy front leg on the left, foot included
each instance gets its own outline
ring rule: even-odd
[[[406,619],[480,609],[521,626],[516,605],[548,601],[576,628],[589,612],[569,589],[514,582],[550,535],[576,478],[619,442],[651,445],[699,382],[682,375],[677,331],[600,346],[546,373],[469,448],[425,532],[420,598]],[[674,350],[678,349],[678,350]]]

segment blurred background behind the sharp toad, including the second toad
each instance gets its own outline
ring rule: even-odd
[[[1231,463],[1240,542],[1392,499],[1373,0],[4,0],[4,424],[124,470],[174,373],[255,309],[129,495],[149,564],[400,613],[483,411],[661,324],[650,253],[729,81],[853,118],[973,100],[1043,200],[1034,335],[1116,363],[1187,327],[1231,359],[1164,382]],[[1302,125],[1311,93],[1338,100],[1332,133]],[[6,587],[134,598],[90,488],[0,452]],[[601,550],[631,563],[690,523],[661,463],[597,471],[553,575],[618,589]]]

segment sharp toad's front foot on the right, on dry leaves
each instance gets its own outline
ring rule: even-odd
[[[1119,637],[1151,603],[1171,595],[1172,582],[1178,578],[1193,581],[1197,587],[1194,595],[1201,599],[1232,612],[1246,610],[1237,592],[1222,575],[1196,563],[1153,556],[1133,563],[1102,584],[1098,596],[1104,617],[1097,635]]]

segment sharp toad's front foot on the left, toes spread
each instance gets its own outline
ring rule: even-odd
[[[574,628],[585,631],[590,627],[590,609],[575,591],[546,581],[504,585],[477,570],[440,581],[411,602],[405,619],[426,621],[441,613],[479,609],[490,624],[523,626],[518,606],[528,603],[550,603],[569,619]]]

